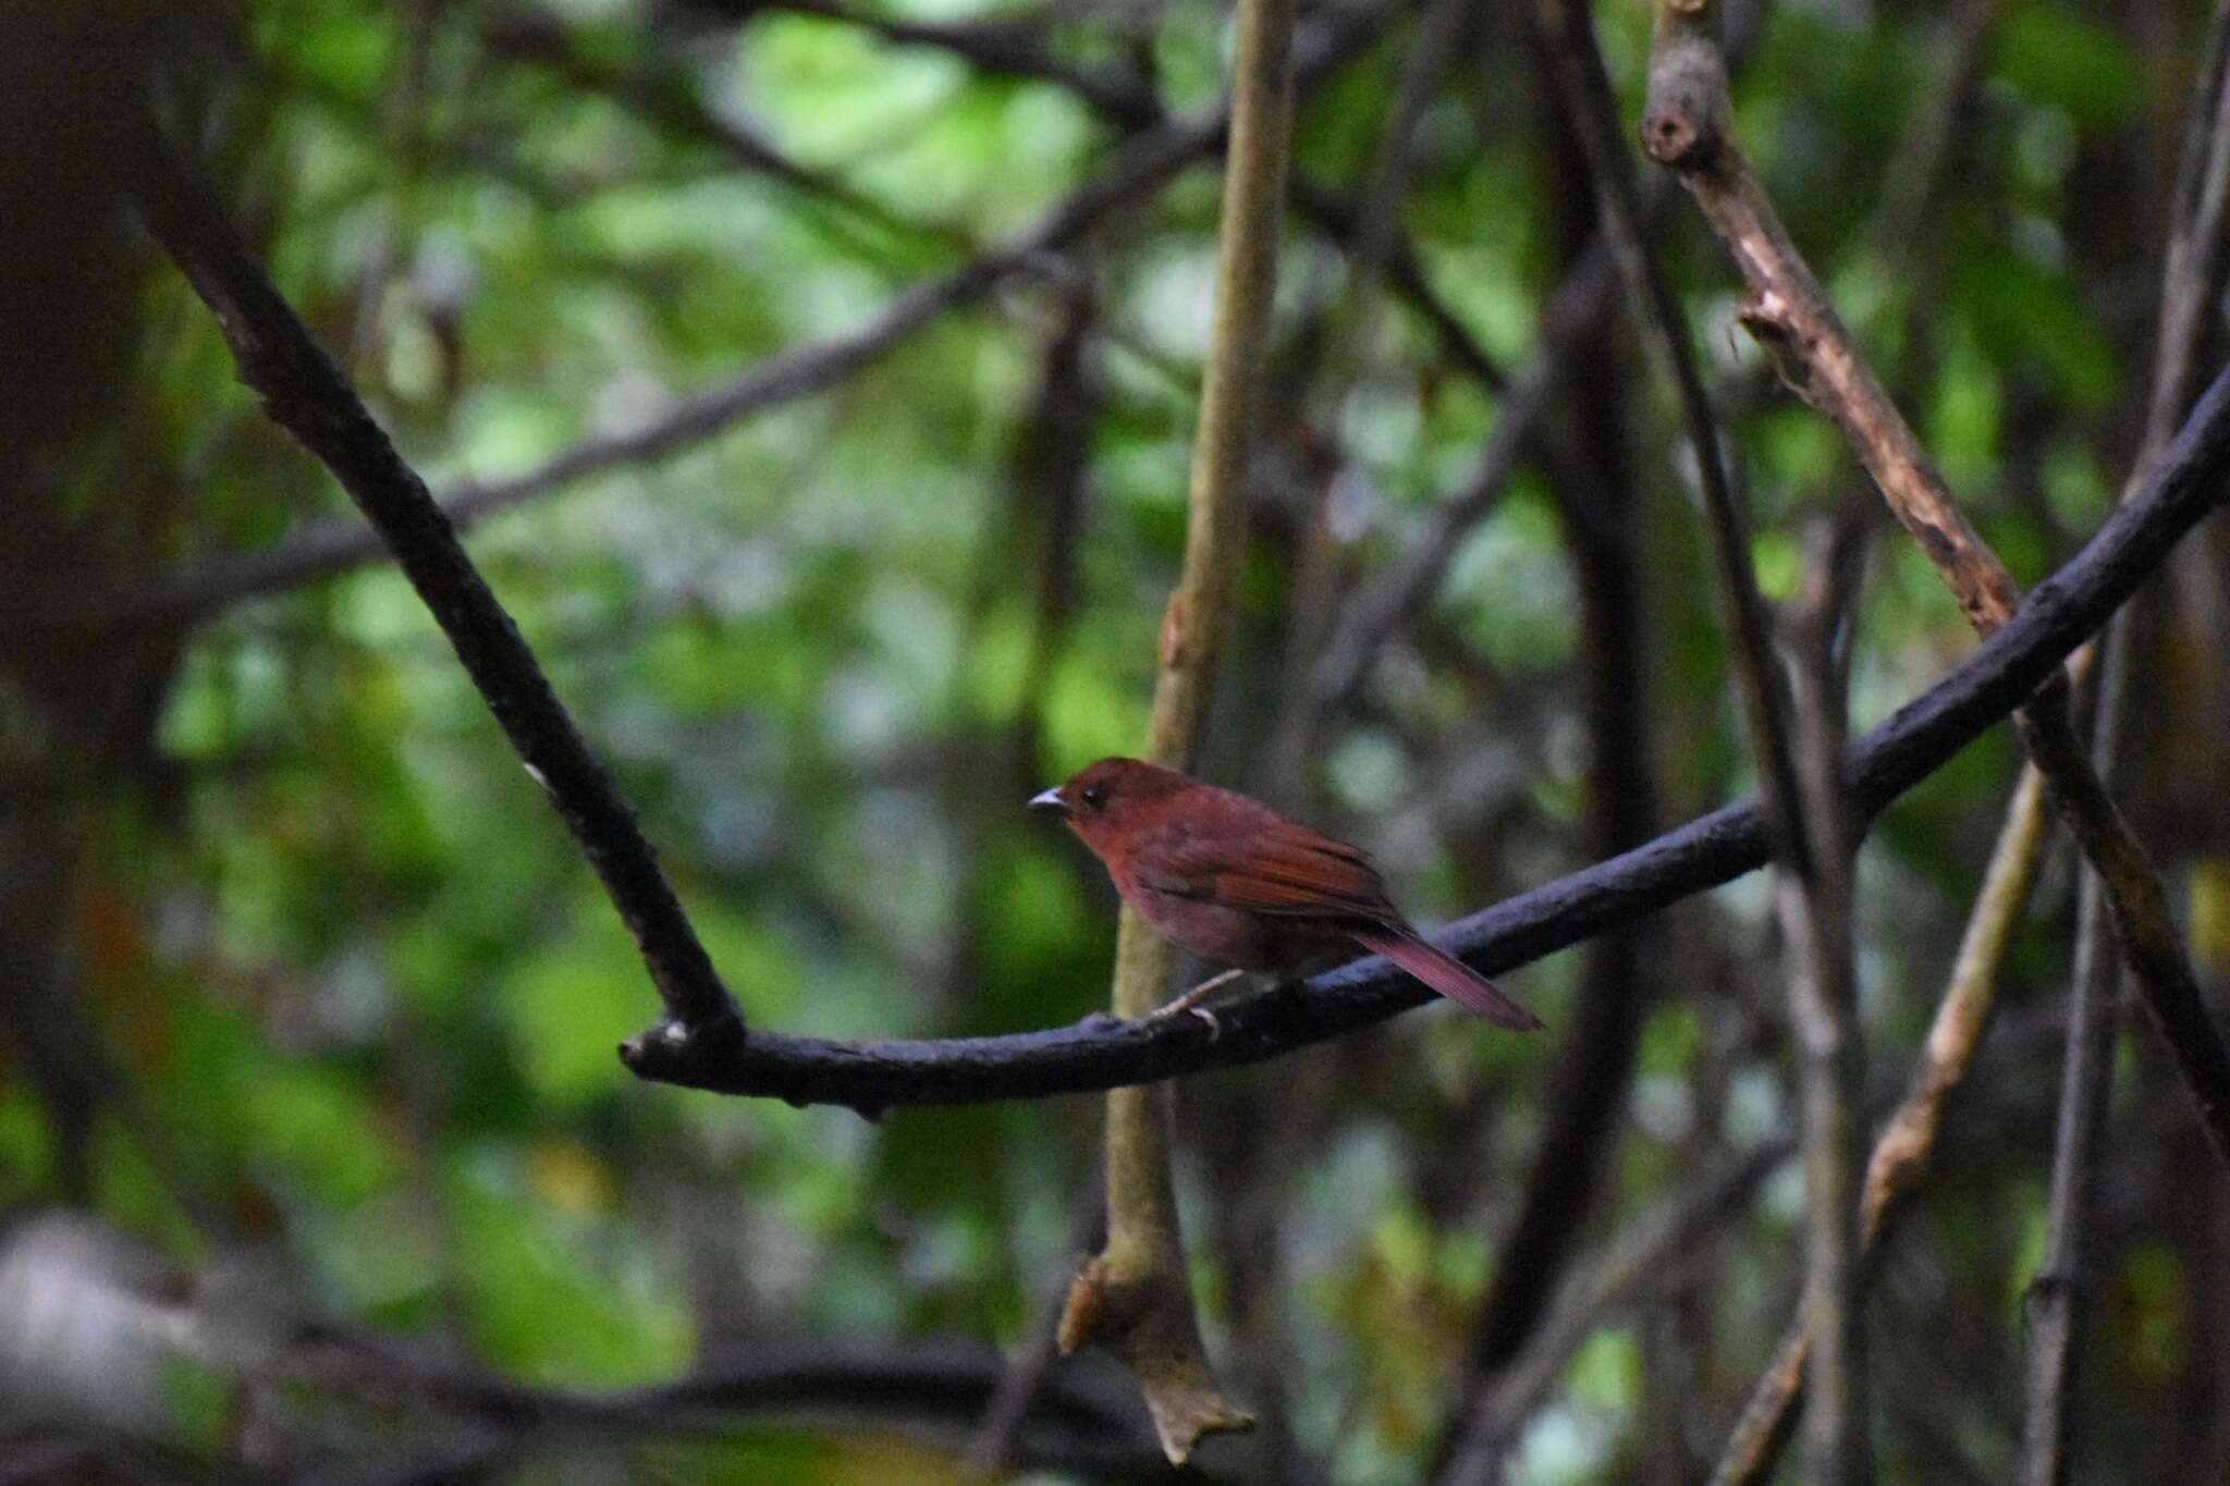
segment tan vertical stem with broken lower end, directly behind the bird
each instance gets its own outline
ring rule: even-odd
[[[1278,267],[1284,149],[1293,107],[1293,0],[1244,0],[1231,78],[1231,145],[1215,258],[1215,323],[1200,390],[1184,573],[1162,615],[1146,755],[1186,766],[1200,749],[1215,653],[1247,535],[1247,459]],[[1115,940],[1117,1016],[1169,996],[1171,951],[1124,909]],[[1108,1094],[1108,1241],[1068,1292],[1061,1350],[1099,1341],[1140,1377],[1169,1459],[1249,1417],[1209,1375],[1169,1170],[1166,1087]]]

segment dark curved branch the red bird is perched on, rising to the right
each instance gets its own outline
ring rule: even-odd
[[[2183,532],[2223,497],[2230,477],[2230,377],[2199,401],[2143,492],[1951,675],[1849,751],[1853,813],[1871,820],[2018,706],[2061,659],[2150,577]],[[1755,804],[1735,804],[1608,862],[1474,913],[1441,936],[1485,974],[1577,945],[1668,902],[1762,867]],[[1363,960],[1193,1018],[1115,1023],[992,1038],[832,1043],[754,1032],[743,1047],[698,1047],[649,1034],[622,1056],[644,1078],[723,1094],[881,1109],[1082,1094],[1276,1058],[1423,1005],[1429,994],[1385,960]]]

